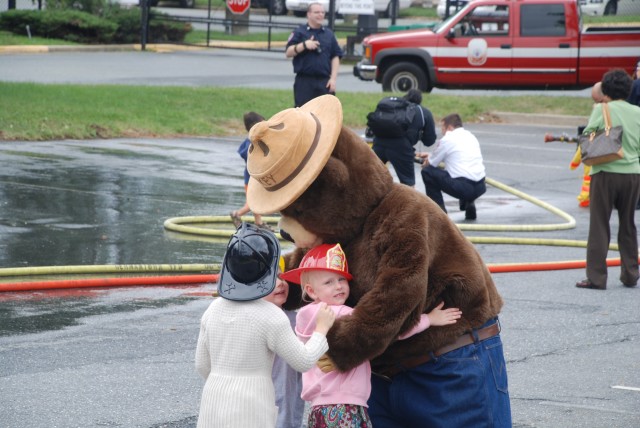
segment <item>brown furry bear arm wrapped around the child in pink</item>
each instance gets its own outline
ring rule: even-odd
[[[371,247],[356,247],[363,256],[349,258],[354,260],[352,297],[358,303],[327,335],[329,356],[340,370],[382,354],[424,311],[429,248],[420,228],[398,231],[377,235],[377,242],[365,240]],[[382,251],[374,255],[376,247]]]

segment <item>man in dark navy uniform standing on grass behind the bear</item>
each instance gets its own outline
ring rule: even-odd
[[[307,23],[296,28],[287,41],[287,58],[293,58],[295,106],[325,94],[336,93],[340,58],[344,55],[333,32],[322,25],[324,6],[311,3]]]

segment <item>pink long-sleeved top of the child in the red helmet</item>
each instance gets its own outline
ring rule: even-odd
[[[345,305],[329,305],[336,314],[336,318],[348,316],[353,308]],[[319,305],[311,303],[298,310],[296,316],[296,334],[306,342],[316,328],[315,318]],[[409,332],[402,335],[402,339],[420,333],[429,327],[429,317],[422,315],[420,322]],[[371,394],[371,364],[366,361],[359,366],[347,371],[334,370],[324,373],[314,366],[302,373],[302,394],[305,401],[310,401],[311,406],[324,406],[328,404],[353,404],[367,407],[367,400]]]

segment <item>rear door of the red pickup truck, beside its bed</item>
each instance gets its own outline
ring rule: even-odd
[[[520,4],[514,25],[513,83],[562,86],[576,83],[577,22],[567,22],[564,3]],[[574,17],[572,19],[577,19]],[[569,25],[571,24],[571,25]]]

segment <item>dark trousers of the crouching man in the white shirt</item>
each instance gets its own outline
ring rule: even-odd
[[[431,165],[422,168],[422,181],[424,181],[427,196],[440,205],[444,212],[447,212],[447,209],[444,207],[442,192],[461,201],[472,202],[487,191],[484,178],[480,181],[463,177],[451,178],[444,169]]]

